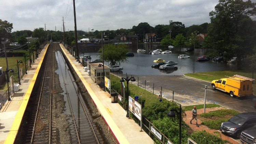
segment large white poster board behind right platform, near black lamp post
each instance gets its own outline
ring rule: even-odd
[[[129,96],[129,110],[139,119],[141,120],[141,105],[134,101],[132,97]]]

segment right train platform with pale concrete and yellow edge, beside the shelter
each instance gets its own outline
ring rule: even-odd
[[[60,45],[118,143],[153,144],[150,136],[145,131],[141,132],[140,126],[132,118],[126,117],[127,112],[122,106],[111,103],[110,93],[101,90],[84,71],[82,64],[76,61],[62,44]]]

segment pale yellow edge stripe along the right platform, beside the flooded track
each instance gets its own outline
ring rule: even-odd
[[[118,141],[118,143],[120,144],[129,144],[129,142],[127,141],[127,139],[125,138],[125,136],[123,135],[123,133],[120,131],[120,129],[117,127],[117,125],[115,124],[114,120],[112,119],[112,117],[110,116],[109,112],[105,109],[105,107],[102,105],[102,103],[100,102],[100,100],[97,98],[97,96],[95,95],[94,91],[90,88],[89,84],[86,82],[86,80],[84,79],[84,77],[82,76],[82,74],[79,72],[79,70],[75,67],[75,64],[72,62],[72,60],[69,58],[69,56],[67,55],[66,51],[65,51],[65,47],[60,44],[60,47],[62,49],[62,51],[64,52],[64,54],[66,55],[66,57],[68,58],[70,64],[72,65],[72,67],[74,68],[76,74],[80,77],[80,80],[82,81],[82,83],[84,84],[86,90],[88,91],[89,95],[91,96],[91,98],[93,99],[95,105],[98,107],[98,110],[100,111],[100,114],[102,115],[103,119],[105,120],[106,124],[109,126],[110,130],[112,131],[112,133],[114,134],[116,140]]]

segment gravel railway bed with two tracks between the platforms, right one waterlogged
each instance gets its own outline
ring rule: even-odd
[[[57,70],[54,63],[57,63]],[[15,143],[104,143],[60,52],[59,43],[49,45],[40,71],[43,71],[40,82],[37,83],[36,90],[33,89],[36,92],[31,95],[32,102],[29,102],[28,110],[26,109],[26,120],[23,120],[22,130]],[[62,89],[61,93],[56,92],[60,90],[58,85]],[[65,101],[61,111],[60,99]],[[66,117],[60,118],[64,114]]]

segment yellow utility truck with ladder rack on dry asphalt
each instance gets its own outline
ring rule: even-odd
[[[231,97],[244,97],[253,95],[253,81],[254,79],[241,75],[227,76],[227,78],[212,81],[212,89],[228,92]]]

